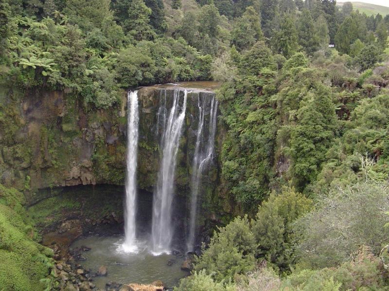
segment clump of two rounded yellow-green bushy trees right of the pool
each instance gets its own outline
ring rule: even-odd
[[[254,257],[287,270],[294,262],[292,223],[311,209],[312,201],[293,189],[271,194],[250,224],[247,217],[237,217],[219,228],[197,259],[195,271],[205,269],[216,281],[233,279],[254,269]]]

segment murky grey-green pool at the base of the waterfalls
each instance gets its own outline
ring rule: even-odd
[[[154,256],[142,242],[138,242],[138,253],[124,253],[121,251],[123,242],[123,235],[90,235],[71,244],[71,250],[84,249],[81,251],[83,260],[77,262],[90,270],[97,288],[105,290],[108,282],[150,284],[155,280],[161,280],[165,287],[174,287],[188,275],[181,270],[185,254],[173,251],[172,254]],[[101,266],[106,267],[107,275],[93,277]]]

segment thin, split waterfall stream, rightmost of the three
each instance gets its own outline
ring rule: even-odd
[[[204,136],[204,115],[206,110],[206,96],[203,96],[202,102],[200,102],[200,95],[198,96],[198,126],[196,132],[196,144],[195,153],[192,163],[192,177],[191,177],[191,207],[190,207],[190,224],[189,224],[189,236],[187,241],[187,250],[192,251],[195,245],[195,229],[196,229],[196,217],[198,211],[198,196],[200,193],[201,175],[207,165],[212,162],[214,140],[216,133],[216,115],[217,115],[217,100],[213,95],[210,106],[209,117],[209,129],[208,129],[208,142],[204,150],[201,150],[201,142]]]

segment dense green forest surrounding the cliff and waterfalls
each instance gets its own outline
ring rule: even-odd
[[[388,290],[389,15],[336,0],[0,0],[0,22],[0,82],[89,111],[137,86],[222,83],[219,187],[235,218],[175,290]],[[52,290],[22,204],[0,186],[0,290]]]

